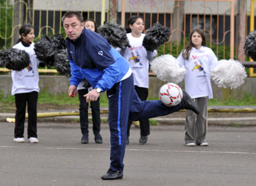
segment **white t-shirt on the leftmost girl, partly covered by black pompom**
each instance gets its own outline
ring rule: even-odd
[[[28,93],[28,92],[39,92],[39,74],[38,74],[38,64],[40,61],[36,58],[34,51],[34,44],[25,47],[21,42],[13,46],[13,48],[18,48],[26,51],[30,57],[30,64],[27,68],[21,71],[12,71],[12,95],[18,93]]]

